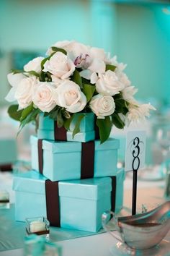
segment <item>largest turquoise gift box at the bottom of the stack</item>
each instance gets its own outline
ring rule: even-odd
[[[120,169],[116,175],[115,213],[122,208],[124,179],[125,172]],[[13,189],[16,221],[47,217],[44,176],[36,171],[17,174]],[[58,182],[61,227],[99,231],[102,228],[102,213],[111,209],[112,189],[110,177]]]

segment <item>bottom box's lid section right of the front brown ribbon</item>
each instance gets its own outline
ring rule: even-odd
[[[111,190],[112,184],[109,177],[59,182],[59,195],[61,197],[97,200]]]

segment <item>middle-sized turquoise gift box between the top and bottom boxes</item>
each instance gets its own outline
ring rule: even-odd
[[[39,171],[38,139],[32,136],[30,140],[32,169]],[[81,144],[83,143],[42,140],[42,174],[53,182],[81,179]],[[117,172],[119,140],[110,139],[103,144],[95,140],[94,147],[94,177],[114,176]]]

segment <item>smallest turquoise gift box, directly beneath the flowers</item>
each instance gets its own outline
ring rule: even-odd
[[[81,114],[77,113],[73,117],[73,120],[71,121],[71,124],[70,124],[70,129],[68,132],[66,132],[67,141],[88,142],[90,140],[94,140],[95,132],[94,132],[94,114],[93,113],[84,114],[85,115],[84,118],[81,119],[80,132],[73,137],[73,129],[75,128],[76,121]],[[39,126],[37,129],[37,137],[39,139],[55,140],[54,129],[55,129],[54,120],[50,119],[50,117],[48,116],[43,116],[43,114],[40,114]]]

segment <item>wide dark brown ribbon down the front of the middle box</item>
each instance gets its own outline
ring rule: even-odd
[[[81,143],[81,179],[94,176],[94,141]]]

